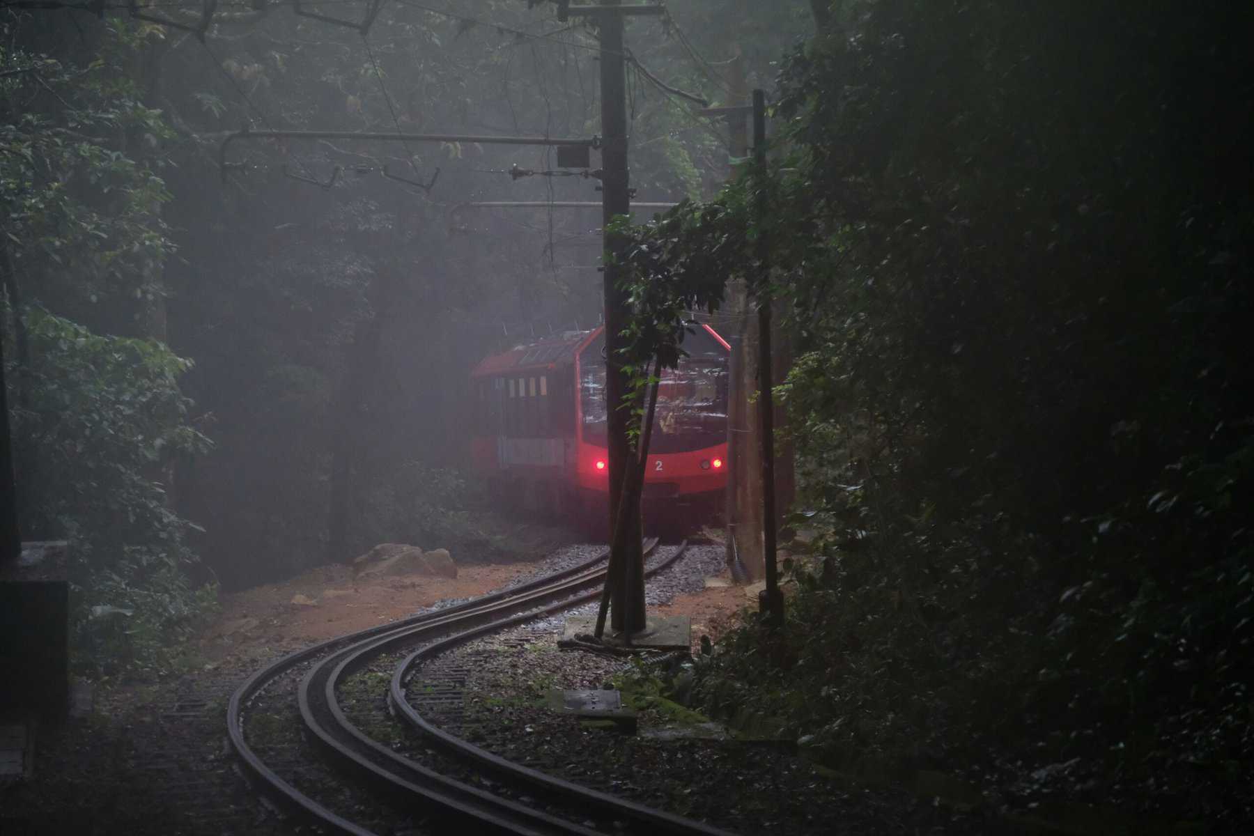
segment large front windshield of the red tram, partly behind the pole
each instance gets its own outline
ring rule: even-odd
[[[606,446],[604,336],[598,335],[581,361],[583,440]],[[662,372],[653,414],[650,452],[686,452],[727,440],[727,353],[705,328],[683,341],[687,357]]]

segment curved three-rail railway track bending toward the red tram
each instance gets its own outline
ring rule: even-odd
[[[647,551],[657,545],[646,543]],[[685,551],[681,544],[673,554],[651,567],[652,575],[671,565]],[[231,697],[227,733],[245,768],[261,782],[268,795],[295,808],[321,830],[354,836],[371,836],[375,830],[352,811],[362,805],[329,801],[302,785],[298,773],[307,766],[306,755],[280,763],[267,762],[250,743],[250,708],[260,698],[280,696],[298,677],[296,702],[307,736],[339,767],[354,772],[360,783],[374,793],[387,796],[396,817],[438,816],[475,827],[474,832],[527,833],[530,836],[581,835],[603,832],[653,833],[657,831],[705,836],[725,835],[702,822],[686,820],[604,792],[513,763],[463,741],[425,719],[410,704],[406,687],[420,666],[456,644],[502,630],[525,620],[567,609],[599,594],[606,575],[606,555],[520,584],[400,622],[322,642],[288,654],[253,673]],[[414,648],[418,648],[416,651]],[[345,709],[344,689],[359,672],[390,668],[387,703],[395,719],[423,736],[426,750],[423,762],[396,751],[395,742],[379,739],[376,723],[362,728]],[[275,694],[267,694],[273,689]],[[381,711],[380,711],[381,714]],[[281,775],[281,772],[283,775]],[[480,781],[480,773],[493,781]],[[492,786],[489,792],[477,783]],[[315,782],[316,783],[316,782]],[[523,787],[524,791],[518,791]],[[356,818],[356,820],[355,820]],[[380,827],[382,830],[382,827]],[[401,828],[403,830],[403,828]]]

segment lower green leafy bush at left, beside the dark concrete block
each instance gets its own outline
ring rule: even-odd
[[[78,663],[155,672],[213,600],[187,568],[194,526],[171,510],[163,465],[208,449],[187,425],[189,361],[153,340],[102,337],[39,308],[26,325],[29,402],[14,410],[28,536],[71,546]],[[9,379],[16,370],[6,370]]]

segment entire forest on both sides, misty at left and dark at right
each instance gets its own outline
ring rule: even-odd
[[[1249,6],[668,8],[628,29],[632,184],[685,201],[624,227],[637,313],[734,277],[782,301],[805,540],[785,624],[676,696],[843,767],[1248,821]],[[466,371],[598,317],[596,212],[466,206],[597,199],[542,149],[217,158],[245,124],[591,135],[594,30],[523,0],[399,0],[365,35],[229,9],[203,39],[3,11],[19,511],[71,540],[99,664],[159,666],[214,584],[461,524]],[[726,104],[734,73],[769,91],[766,172],[655,83]]]

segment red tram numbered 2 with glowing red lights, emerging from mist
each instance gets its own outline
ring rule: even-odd
[[[692,521],[721,506],[729,346],[696,326],[658,385],[645,516]],[[604,332],[568,331],[484,358],[470,374],[472,464],[494,495],[592,530],[608,518]],[[677,515],[682,514],[682,518]]]

